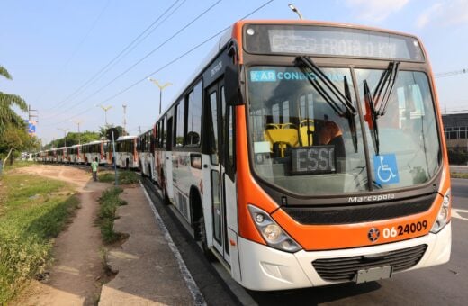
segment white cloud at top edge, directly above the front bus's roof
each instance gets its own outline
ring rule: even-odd
[[[410,0],[347,0],[347,6],[359,11],[360,18],[381,22],[390,14],[400,11]]]

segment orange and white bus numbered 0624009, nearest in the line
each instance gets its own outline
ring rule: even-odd
[[[253,290],[365,283],[446,263],[450,177],[412,35],[241,21],[157,121],[157,184]]]

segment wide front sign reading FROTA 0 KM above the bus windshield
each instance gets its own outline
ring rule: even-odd
[[[388,32],[304,25],[252,24],[247,25],[247,28],[251,29],[251,31],[247,30],[247,50],[253,53],[424,61],[422,49],[417,39]],[[256,36],[263,36],[265,38],[263,40],[268,41],[268,43],[260,46],[254,45]],[[251,45],[249,45],[249,41],[251,41]]]

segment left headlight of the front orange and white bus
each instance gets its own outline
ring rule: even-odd
[[[266,211],[257,208],[254,205],[248,205],[250,216],[254,220],[257,230],[265,239],[269,247],[275,247],[286,252],[296,252],[302,249]]]

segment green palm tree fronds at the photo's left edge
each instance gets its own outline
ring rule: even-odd
[[[0,76],[4,76],[9,80],[12,79],[12,76],[10,76],[3,66],[0,66]],[[14,105],[24,112],[28,111],[28,104],[26,104],[22,97],[16,94],[5,94],[0,91],[0,135],[4,133],[4,130],[9,125],[14,128],[20,128],[24,125],[23,118],[12,109]]]

